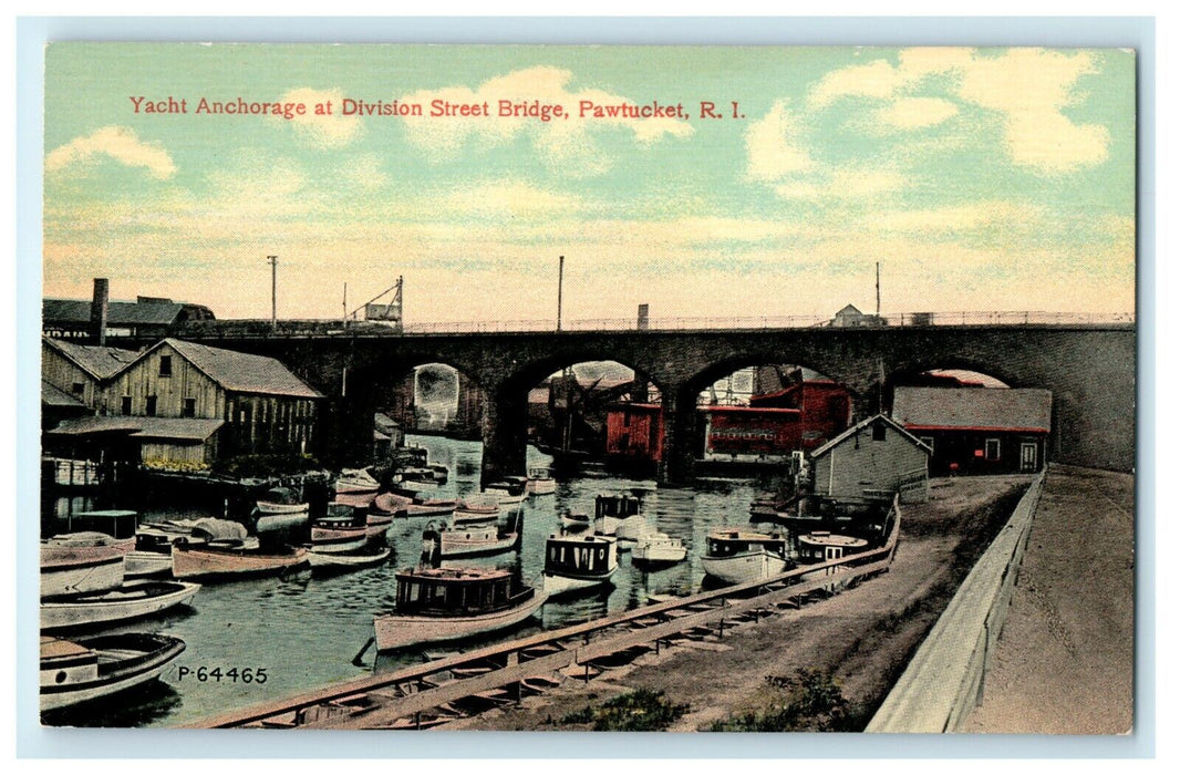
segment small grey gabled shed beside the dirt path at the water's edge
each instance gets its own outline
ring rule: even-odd
[[[930,497],[930,447],[878,414],[858,422],[811,453],[815,495],[843,503],[923,503]]]

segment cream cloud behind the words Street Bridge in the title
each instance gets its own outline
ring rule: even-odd
[[[432,160],[454,158],[468,143],[497,145],[520,134],[529,134],[540,158],[550,166],[563,166],[570,175],[596,173],[610,165],[590,137],[591,129],[627,129],[635,140],[655,143],[666,137],[689,137],[693,127],[676,118],[579,118],[578,103],[597,105],[634,104],[624,97],[602,90],[570,91],[573,73],[557,67],[530,67],[491,78],[476,88],[447,86],[399,97],[402,104],[422,106],[421,117],[407,116],[406,136]],[[446,100],[459,105],[487,103],[490,117],[431,117],[431,103]],[[500,117],[500,100],[563,105],[572,113],[568,119],[542,121],[536,117]]]

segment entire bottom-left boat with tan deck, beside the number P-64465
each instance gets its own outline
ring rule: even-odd
[[[41,637],[41,710],[68,708],[159,677],[184,641],[127,632],[64,641]]]

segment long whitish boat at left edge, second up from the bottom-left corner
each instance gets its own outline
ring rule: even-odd
[[[41,600],[41,629],[114,624],[152,616],[191,603],[199,590],[199,584],[186,582],[137,582],[107,592]]]

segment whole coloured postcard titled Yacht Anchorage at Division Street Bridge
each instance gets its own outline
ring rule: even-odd
[[[1135,73],[50,44],[41,723],[1133,730]]]

